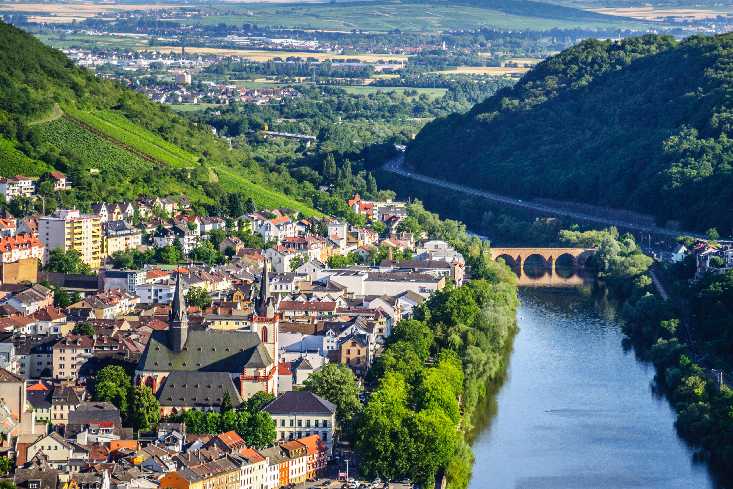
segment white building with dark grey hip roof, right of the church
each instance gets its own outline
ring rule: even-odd
[[[309,391],[283,392],[263,411],[275,420],[278,440],[287,441],[309,435],[319,435],[333,450],[336,429],[336,406]]]

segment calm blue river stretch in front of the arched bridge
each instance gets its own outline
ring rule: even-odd
[[[479,422],[470,489],[719,489],[609,310],[572,289],[520,297],[520,331]]]

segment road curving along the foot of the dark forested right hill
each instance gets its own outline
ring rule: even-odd
[[[695,233],[688,233],[688,232],[684,232],[680,230],[663,228],[663,227],[658,227],[658,226],[648,226],[648,225],[639,224],[637,222],[632,222],[632,221],[605,218],[602,216],[585,214],[582,212],[571,211],[568,209],[560,209],[557,207],[552,207],[552,206],[549,206],[546,204],[540,204],[537,202],[517,199],[515,197],[509,197],[509,196],[497,194],[494,192],[488,192],[486,190],[478,190],[472,187],[467,187],[466,185],[460,185],[460,184],[453,183],[453,182],[447,182],[445,180],[440,180],[437,178],[428,177],[426,175],[415,173],[411,170],[406,169],[404,167],[404,162],[405,162],[404,155],[400,155],[392,160],[389,160],[387,163],[385,163],[383,168],[390,173],[395,173],[403,177],[411,178],[418,182],[435,185],[437,187],[443,187],[443,188],[454,190],[456,192],[461,192],[467,195],[481,197],[487,200],[509,205],[509,206],[516,207],[519,209],[542,212],[545,214],[550,214],[550,215],[560,216],[560,217],[569,217],[571,219],[577,219],[578,221],[586,221],[586,222],[601,224],[603,226],[616,226],[617,228],[639,231],[643,233],[650,233],[650,234],[655,234],[655,235],[665,236],[665,237],[670,237],[670,238],[676,238],[677,236],[681,234],[702,237]]]

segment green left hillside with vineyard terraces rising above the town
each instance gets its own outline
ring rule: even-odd
[[[230,148],[208,127],[2,22],[0,46],[0,176],[63,171],[76,189],[64,205],[181,194],[217,207],[239,194],[316,212],[275,190],[297,183],[264,171],[246,146]]]

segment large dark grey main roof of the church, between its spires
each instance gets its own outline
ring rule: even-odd
[[[138,370],[238,374],[242,368],[264,368],[272,363],[272,357],[257,333],[190,329],[186,345],[179,353],[169,348],[168,331],[154,331]]]

